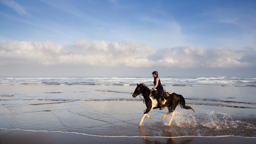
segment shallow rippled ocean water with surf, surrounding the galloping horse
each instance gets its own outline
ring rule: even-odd
[[[256,77],[165,77],[167,92],[185,98],[194,110],[171,114],[153,109],[144,118],[137,83],[147,76],[0,76],[0,129],[75,132],[94,136],[256,137]]]

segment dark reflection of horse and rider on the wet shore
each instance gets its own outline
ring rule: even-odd
[[[146,127],[139,126],[139,130],[141,131],[142,136],[145,136],[143,137],[145,144],[187,144],[194,139],[194,137],[187,137],[187,138],[183,138],[181,141],[175,141],[176,138],[174,138],[175,135],[172,131],[172,128],[168,127],[168,129],[170,130],[170,134],[165,137],[170,137],[170,138],[159,139],[159,138],[146,137],[147,135],[150,135],[150,133],[153,132],[153,129],[147,129]]]

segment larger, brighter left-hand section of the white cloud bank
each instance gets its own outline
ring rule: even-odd
[[[152,47],[132,42],[78,40],[72,45],[50,41],[0,43],[0,64],[91,65],[99,67],[151,66]]]

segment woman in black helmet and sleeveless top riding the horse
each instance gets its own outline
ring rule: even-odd
[[[161,85],[161,81],[160,81],[160,79],[159,79],[159,77],[158,77],[158,72],[157,72],[157,71],[154,71],[154,72],[152,72],[152,74],[153,74],[153,77],[154,77],[154,85],[155,85],[155,86],[151,89],[151,92],[152,92],[154,89],[157,90],[157,98],[158,98],[158,101],[159,101],[160,106],[161,106],[160,110],[162,110],[162,109],[164,109],[164,107],[163,107],[163,104],[162,104],[162,101],[161,101],[161,96],[162,96],[162,93],[163,93],[164,88],[163,88],[163,86]]]

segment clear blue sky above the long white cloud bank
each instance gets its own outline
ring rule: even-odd
[[[15,3],[15,5],[10,4]],[[1,0],[0,39],[255,47],[256,1]]]

